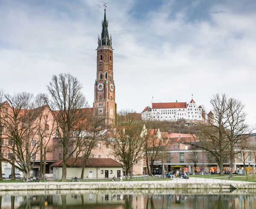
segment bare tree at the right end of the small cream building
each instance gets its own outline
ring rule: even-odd
[[[111,143],[113,154],[123,164],[127,179],[132,166],[143,158],[144,151],[141,138],[143,121],[130,113],[129,110],[122,110],[117,116],[117,127],[112,130],[115,140]]]

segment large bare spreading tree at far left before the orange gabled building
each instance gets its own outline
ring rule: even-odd
[[[32,94],[25,92],[5,95],[2,118],[5,127],[4,139],[8,142],[3,145],[3,150],[8,153],[8,157],[2,156],[2,160],[12,165],[12,178],[15,177],[15,168],[29,177],[38,152],[35,119],[39,110],[33,108],[32,98]]]

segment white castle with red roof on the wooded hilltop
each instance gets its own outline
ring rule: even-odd
[[[151,107],[145,107],[142,111],[142,119],[177,121],[178,119],[204,121],[204,111],[201,105],[192,99],[186,102],[165,102],[153,103]]]

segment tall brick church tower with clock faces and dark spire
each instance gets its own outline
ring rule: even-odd
[[[108,35],[108,21],[106,20],[105,9],[104,20],[102,21],[102,33],[98,37],[93,113],[99,116],[105,116],[106,125],[114,125],[116,121],[115,92],[112,37]]]

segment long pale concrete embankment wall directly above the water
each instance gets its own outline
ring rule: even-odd
[[[160,183],[160,182],[46,182],[0,184],[4,190],[77,190],[77,189],[256,189],[255,183]]]

